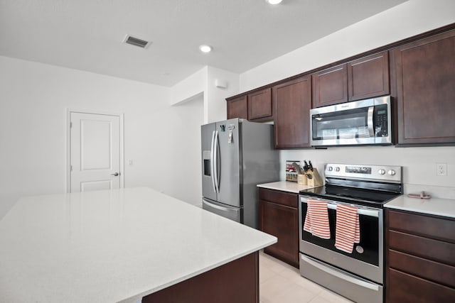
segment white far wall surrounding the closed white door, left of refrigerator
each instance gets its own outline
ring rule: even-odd
[[[67,108],[124,113],[125,187],[200,204],[202,101],[170,106],[166,87],[1,56],[0,97],[0,217],[18,197],[65,192]]]

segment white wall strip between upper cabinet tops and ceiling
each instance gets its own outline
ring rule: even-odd
[[[240,92],[454,23],[454,11],[454,0],[407,1],[242,73]]]

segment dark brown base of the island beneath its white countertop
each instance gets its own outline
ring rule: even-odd
[[[191,260],[188,260],[191,262]],[[259,303],[259,254],[233,260],[142,298],[144,303]]]

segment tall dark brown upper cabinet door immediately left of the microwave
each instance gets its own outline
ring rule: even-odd
[[[310,146],[311,78],[301,77],[272,88],[275,148]]]

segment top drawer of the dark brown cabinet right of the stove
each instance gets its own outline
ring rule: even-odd
[[[455,243],[455,220],[434,216],[388,212],[389,228]]]

